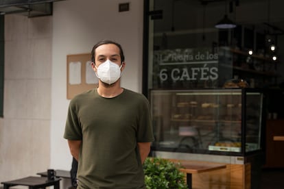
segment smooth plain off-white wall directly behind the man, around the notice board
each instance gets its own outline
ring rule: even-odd
[[[51,84],[51,167],[69,170],[71,155],[63,138],[67,100],[67,55],[90,53],[101,39],[119,42],[126,56],[121,85],[141,92],[143,1],[130,1],[129,12],[118,12],[125,0],[69,0],[54,3]]]

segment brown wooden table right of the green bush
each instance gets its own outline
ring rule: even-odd
[[[204,173],[208,171],[215,171],[222,168],[226,168],[225,164],[215,164],[210,162],[196,162],[187,160],[170,160],[171,162],[180,162],[182,168],[180,171],[187,173],[187,186],[189,189],[192,188],[192,174],[194,173]]]

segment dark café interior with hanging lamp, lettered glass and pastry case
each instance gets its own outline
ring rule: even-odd
[[[243,164],[251,178],[242,186],[250,182],[251,188],[261,187],[265,168],[284,168],[283,143],[275,139],[284,135],[282,5],[147,1],[143,80],[154,117],[154,155]],[[233,177],[231,170],[226,175]]]

